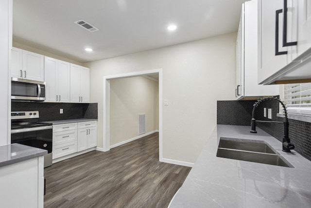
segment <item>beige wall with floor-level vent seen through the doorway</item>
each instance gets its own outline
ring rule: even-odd
[[[138,113],[146,133],[158,130],[158,82],[143,76],[110,80],[110,145],[138,136]]]

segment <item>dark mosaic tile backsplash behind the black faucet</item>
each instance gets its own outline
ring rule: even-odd
[[[217,124],[250,126],[255,102],[253,100],[217,101]],[[275,100],[267,100],[258,105],[255,116],[257,120],[270,120],[263,116],[264,107],[272,109],[272,121],[283,121],[283,118],[276,116],[279,112],[279,104]],[[282,141],[283,124],[257,123],[257,126]],[[295,145],[295,151],[311,160],[311,123],[289,119],[289,137]]]

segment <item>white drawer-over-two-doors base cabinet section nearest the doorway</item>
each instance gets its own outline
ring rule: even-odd
[[[97,121],[78,124],[78,151],[97,146]]]

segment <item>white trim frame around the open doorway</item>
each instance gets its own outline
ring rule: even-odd
[[[103,150],[110,150],[110,81],[118,78],[129,78],[136,76],[158,76],[158,131],[159,131],[159,161],[163,159],[163,108],[162,108],[162,69],[104,76],[104,107],[103,107]]]

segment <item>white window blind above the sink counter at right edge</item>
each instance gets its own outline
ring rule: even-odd
[[[283,94],[288,114],[311,116],[311,83],[284,84]]]

